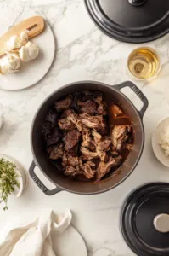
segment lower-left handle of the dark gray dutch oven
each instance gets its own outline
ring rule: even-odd
[[[37,186],[42,190],[42,192],[44,194],[54,195],[54,194],[62,191],[62,189],[59,189],[59,188],[52,189],[52,190],[47,189],[47,187],[42,183],[42,181],[35,174],[35,172],[34,172],[35,166],[36,166],[36,164],[34,163],[34,161],[32,161],[30,169],[29,169],[30,176],[34,180],[34,182],[37,184]]]

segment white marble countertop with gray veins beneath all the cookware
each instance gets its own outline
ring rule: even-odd
[[[64,84],[92,79],[107,84],[128,80],[127,55],[138,45],[124,44],[105,36],[90,20],[82,0],[0,1],[0,34],[26,15],[43,15],[54,31],[57,53],[54,65],[36,86],[20,91],[0,91],[3,128],[0,130],[0,152],[15,157],[28,169],[31,160],[31,120],[41,102]],[[43,195],[30,179],[20,199],[9,200],[8,212],[1,210],[0,230],[12,218],[25,213],[38,214],[44,208],[62,211],[70,207],[73,224],[84,237],[89,256],[134,255],[121,237],[119,215],[127,194],[140,184],[169,182],[169,169],[162,166],[151,148],[155,124],[169,113],[169,35],[150,45],[159,50],[162,70],[157,79],[136,82],[149,99],[144,115],[144,153],[132,175],[119,187],[101,195],[73,195],[60,192]],[[24,81],[23,81],[24,83]],[[127,92],[138,103],[132,92]],[[48,182],[45,182],[48,183]]]

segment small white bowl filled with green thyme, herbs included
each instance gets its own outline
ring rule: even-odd
[[[0,204],[8,209],[8,196],[20,197],[27,183],[25,168],[5,154],[0,154]]]

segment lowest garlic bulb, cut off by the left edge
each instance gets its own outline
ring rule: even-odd
[[[0,64],[1,73],[14,73],[20,68],[21,61],[17,54],[7,54]]]

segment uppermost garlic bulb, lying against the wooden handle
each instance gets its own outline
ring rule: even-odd
[[[21,32],[20,36],[14,35],[9,38],[7,42],[7,49],[11,51],[13,49],[20,49],[21,46],[25,45],[28,41],[28,35],[26,32]]]

